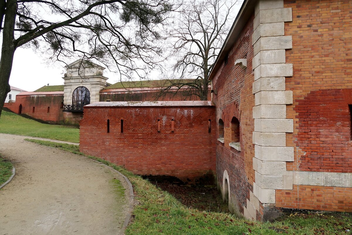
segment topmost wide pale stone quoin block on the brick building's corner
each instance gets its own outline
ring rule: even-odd
[[[256,29],[259,24],[263,23],[290,22],[292,21],[292,8],[259,10],[253,21],[254,29]]]

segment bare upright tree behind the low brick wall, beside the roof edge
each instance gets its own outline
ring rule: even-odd
[[[192,2],[180,11],[170,33],[175,39],[172,56],[176,57],[170,85],[162,93],[188,90],[200,100],[208,99],[208,77],[229,30],[230,14],[237,1],[205,0]],[[180,79],[175,80],[175,77]],[[186,80],[183,78],[187,78]]]

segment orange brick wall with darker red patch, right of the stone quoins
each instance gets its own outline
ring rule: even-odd
[[[293,63],[294,75],[286,78],[286,87],[293,91],[287,118],[294,119],[294,133],[287,134],[287,146],[295,147],[295,160],[287,170],[352,172],[351,1],[284,4],[293,10],[285,35],[293,40],[286,63]],[[351,211],[351,203],[351,188],[276,190],[277,207]]]

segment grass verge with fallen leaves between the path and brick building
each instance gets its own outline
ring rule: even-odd
[[[79,152],[75,145],[50,141],[30,140],[37,144],[59,148],[71,153]],[[130,179],[136,200],[133,222],[127,227],[126,235],[189,234],[189,235],[335,235],[351,234],[352,215],[347,213],[291,214],[273,223],[262,223],[238,219],[231,214],[215,213],[184,207],[169,193],[162,191],[140,176],[112,164],[104,159],[85,155],[120,171]]]

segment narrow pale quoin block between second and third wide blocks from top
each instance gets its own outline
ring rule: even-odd
[[[266,50],[260,51],[252,59],[253,69],[257,68],[260,64],[279,64],[286,62],[285,50]]]

